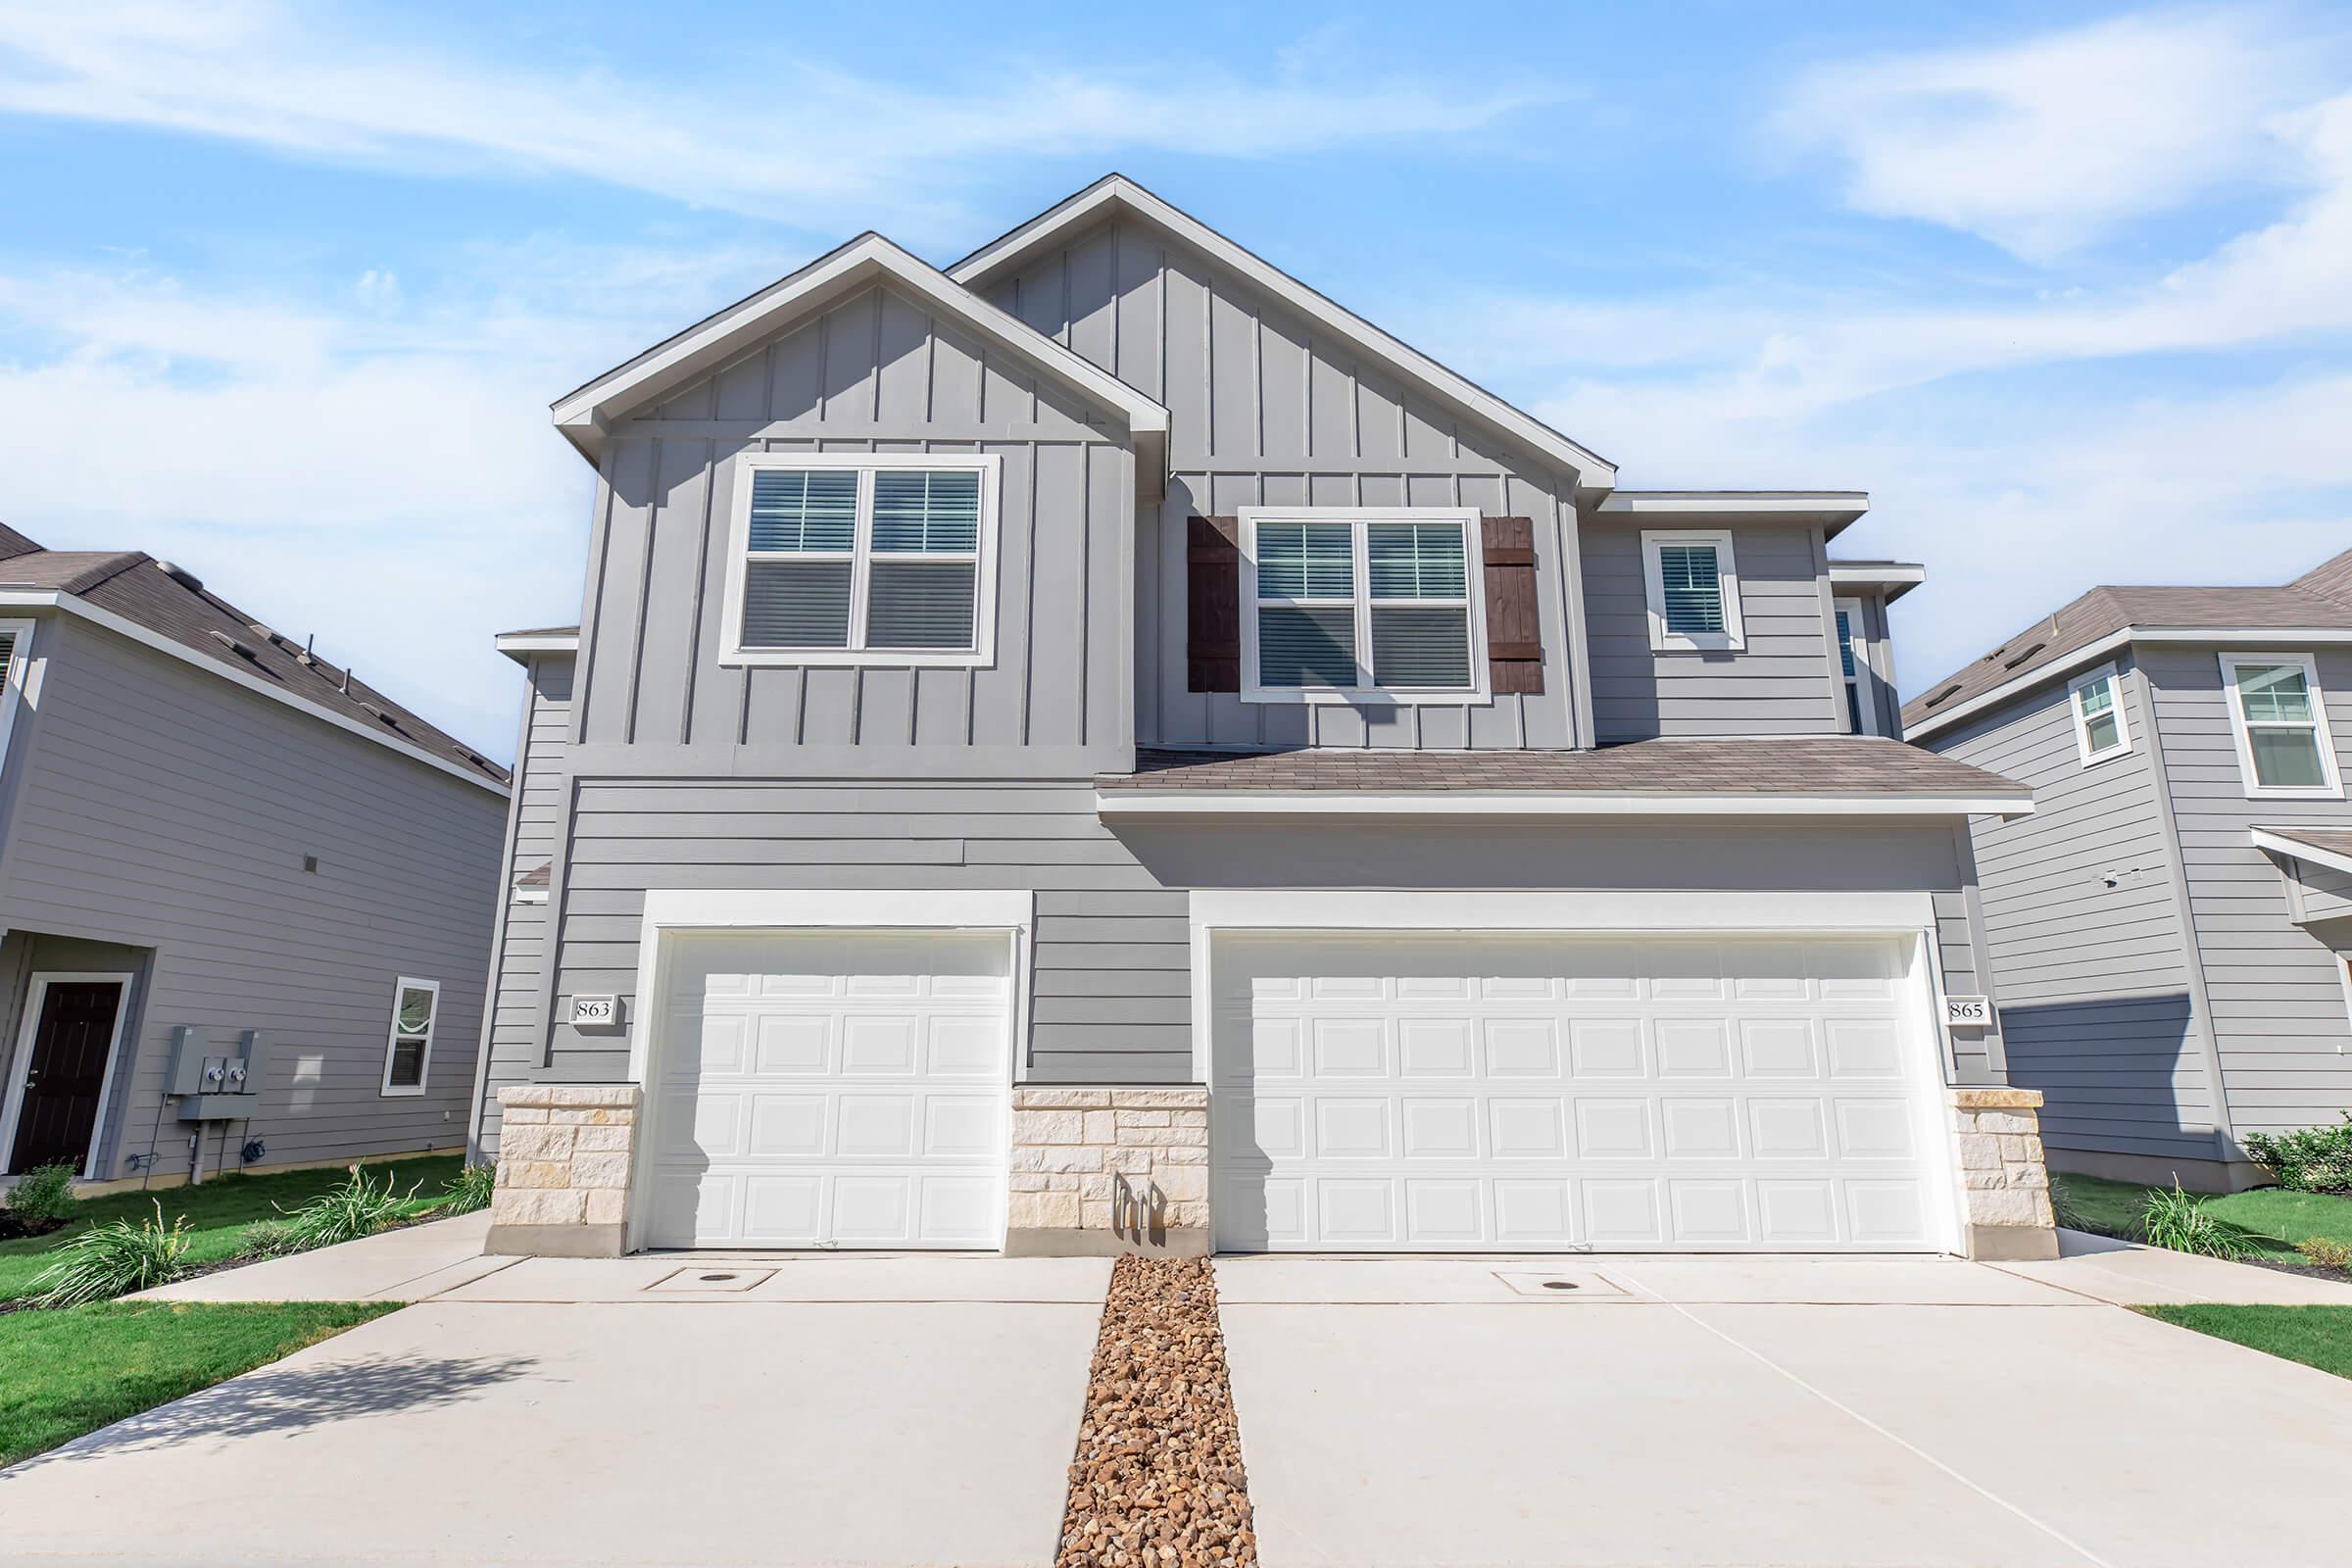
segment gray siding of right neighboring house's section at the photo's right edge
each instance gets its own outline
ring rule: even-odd
[[[2263,639],[2244,651],[2293,649]],[[2234,651],[2234,649],[2232,649]],[[2352,651],[2312,649],[2336,738],[2338,776],[2352,776]],[[2352,1018],[2338,959],[2293,924],[2279,865],[2253,846],[2258,823],[2352,825],[2340,799],[2249,799],[2237,764],[2216,649],[2143,646],[2197,947],[2220,1041],[2230,1124],[2274,1133],[2336,1121],[2352,1110]]]

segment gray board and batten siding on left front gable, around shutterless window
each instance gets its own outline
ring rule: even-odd
[[[988,668],[722,665],[736,458],[995,454]],[[910,778],[1127,766],[1136,463],[1108,414],[873,287],[642,418],[600,477],[572,741],[586,771]]]

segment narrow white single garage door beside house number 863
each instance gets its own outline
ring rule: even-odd
[[[649,1246],[1002,1246],[1004,936],[670,940]]]

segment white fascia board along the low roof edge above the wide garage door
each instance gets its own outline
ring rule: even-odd
[[[1101,816],[2030,816],[2023,795],[1096,790]]]

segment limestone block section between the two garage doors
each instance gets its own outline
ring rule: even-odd
[[[1014,1255],[1209,1251],[1207,1088],[1014,1088]]]

